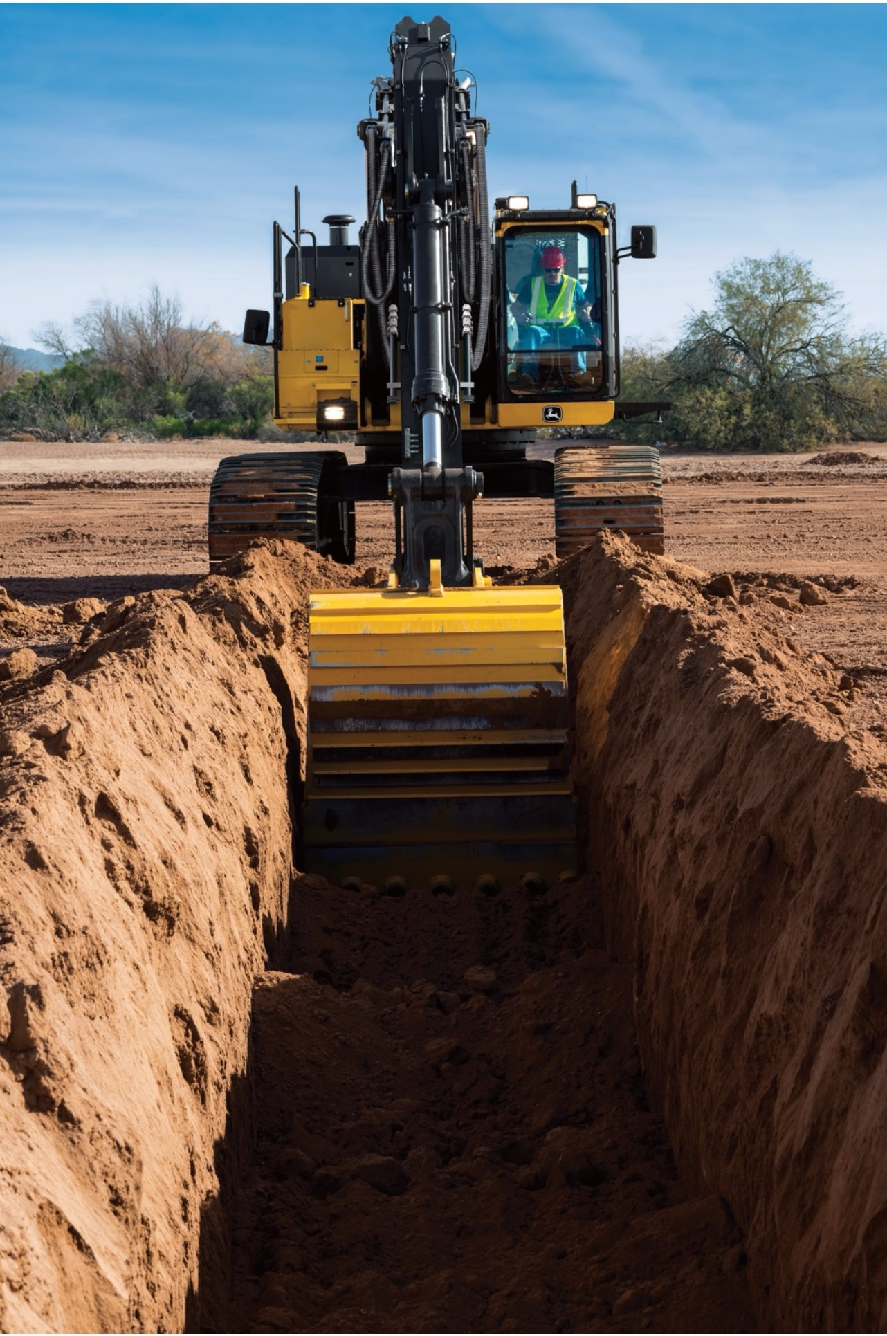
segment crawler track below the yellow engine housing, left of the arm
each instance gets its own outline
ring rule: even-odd
[[[210,485],[210,566],[258,537],[318,550],[318,488],[331,453],[231,454]]]

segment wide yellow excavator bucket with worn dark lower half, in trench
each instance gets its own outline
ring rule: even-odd
[[[557,587],[311,595],[305,866],[550,883],[576,863]]]

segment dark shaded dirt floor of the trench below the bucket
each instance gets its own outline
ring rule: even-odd
[[[582,826],[545,890],[297,874],[190,1329],[757,1329],[743,1232],[649,1106]]]

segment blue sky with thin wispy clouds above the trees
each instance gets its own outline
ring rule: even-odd
[[[882,4],[0,4],[0,335],[156,282],[239,330],[270,223],[365,216],[355,136],[387,35],[442,12],[492,123],[490,194],[616,200],[624,342],[672,341],[711,278],[793,250],[887,327]]]

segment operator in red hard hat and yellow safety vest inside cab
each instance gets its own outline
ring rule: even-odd
[[[566,257],[558,246],[546,246],[541,257],[542,273],[528,274],[517,286],[512,315],[517,323],[518,350],[538,353],[546,346],[573,349],[601,346],[601,326],[592,319],[592,303],[577,278],[564,273]],[[577,354],[577,359],[581,354]],[[509,375],[521,386],[538,379],[538,358],[522,357],[521,371]],[[580,369],[584,358],[581,358]]]

